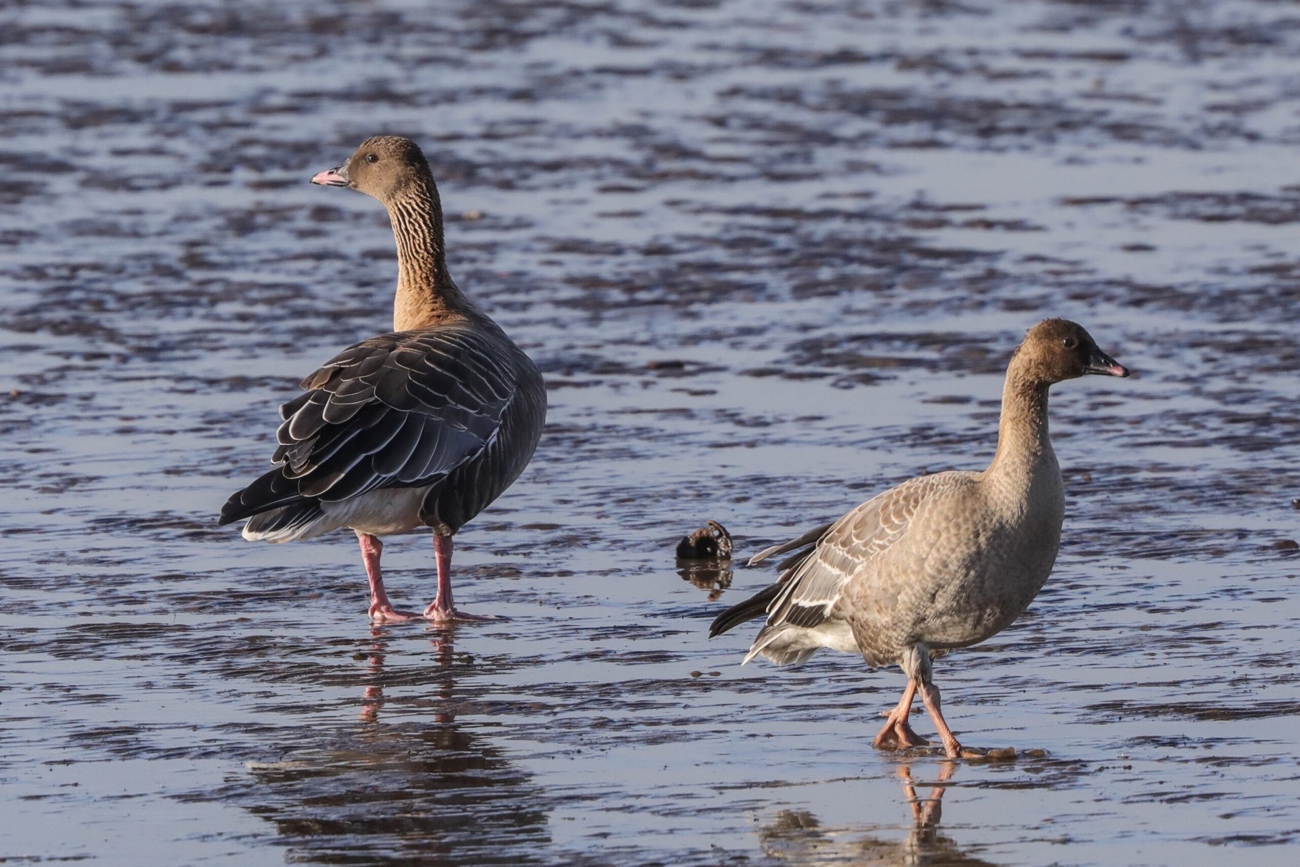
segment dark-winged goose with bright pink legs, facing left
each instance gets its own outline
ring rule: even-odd
[[[389,211],[398,246],[393,333],[334,356],[280,408],[274,469],[230,497],[221,524],[287,542],[351,528],[370,580],[370,617],[389,602],[381,536],[433,529],[438,594],[424,616],[485,620],[451,599],[451,537],[528,465],[546,420],[537,367],[447,274],[442,204],[424,153],[381,135],[312,183],[350,187]]]

